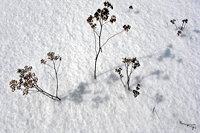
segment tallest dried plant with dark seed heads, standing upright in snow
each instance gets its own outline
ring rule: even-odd
[[[105,42],[102,42],[103,27],[108,23],[113,24],[114,22],[116,22],[116,16],[115,15],[110,16],[110,10],[112,10],[112,9],[113,9],[113,5],[106,1],[106,2],[104,2],[104,7],[102,9],[97,9],[96,12],[94,13],[94,15],[90,15],[87,18],[87,22],[93,30],[94,40],[95,40],[96,56],[95,56],[94,79],[96,79],[96,77],[97,77],[96,76],[97,60],[98,60],[100,52],[102,52],[102,48],[107,44],[107,42],[110,39],[112,39],[113,37],[115,37],[116,35],[124,32],[124,31],[128,32],[129,29],[131,28],[130,25],[124,25],[123,29],[120,32],[108,37]],[[97,43],[98,43],[98,46],[97,46]]]

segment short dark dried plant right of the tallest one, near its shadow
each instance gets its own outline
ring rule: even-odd
[[[129,91],[132,91],[134,93],[134,96],[137,97],[140,93],[139,93],[139,89],[140,89],[140,84],[137,84],[136,89],[131,90],[130,88],[130,79],[133,73],[133,70],[135,70],[136,68],[138,68],[140,66],[139,61],[136,58],[122,58],[122,62],[124,63],[125,66],[125,73],[126,73],[126,82],[124,82],[124,76],[122,74],[122,68],[118,68],[115,69],[115,72],[119,74],[120,80],[124,86],[124,88],[128,89]]]

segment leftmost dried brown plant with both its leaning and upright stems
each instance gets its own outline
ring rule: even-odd
[[[38,86],[38,78],[34,72],[31,72],[32,66],[25,66],[24,68],[17,70],[17,73],[19,74],[19,80],[10,81],[10,88],[12,89],[12,92],[14,92],[15,90],[21,90],[23,92],[23,95],[27,95],[29,94],[29,92],[39,92],[53,100],[58,100],[58,101],[61,100],[58,97],[58,70],[61,62],[61,57],[55,55],[54,52],[49,52],[47,56],[48,59],[52,61],[53,66],[48,64],[47,61],[44,59],[41,59],[41,63],[48,65],[55,71],[56,94],[52,95]],[[56,67],[56,62],[59,62],[59,65],[57,67]]]

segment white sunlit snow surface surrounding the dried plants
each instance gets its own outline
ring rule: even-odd
[[[94,38],[86,19],[103,2],[0,0],[0,133],[200,132],[200,0],[110,0],[117,22],[105,26],[103,39],[124,24],[131,30],[104,47],[94,80]],[[181,25],[185,18],[177,36],[169,21]],[[61,102],[11,92],[9,81],[25,65],[33,66],[41,88],[55,92],[53,71],[40,64],[49,51],[62,57]],[[114,71],[123,57],[140,61],[131,79],[132,88],[141,84],[137,98]]]

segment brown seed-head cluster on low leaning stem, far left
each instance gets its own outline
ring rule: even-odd
[[[31,72],[32,66],[25,66],[22,69],[18,69],[17,73],[19,73],[19,80],[11,80],[10,88],[12,92],[16,89],[21,90],[23,95],[27,95],[31,91],[40,92],[47,97],[53,100],[61,100],[59,97],[54,96],[38,86],[38,78],[36,77],[34,72]]]

